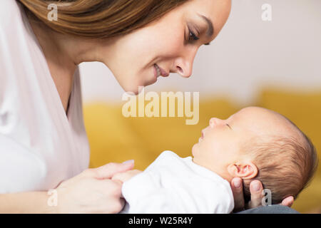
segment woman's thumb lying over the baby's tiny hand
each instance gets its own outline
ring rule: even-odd
[[[95,168],[94,175],[97,179],[108,179],[113,177],[118,172],[126,172],[133,169],[134,160],[128,160],[123,163],[108,163],[101,167]]]

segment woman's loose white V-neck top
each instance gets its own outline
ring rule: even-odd
[[[68,116],[24,10],[0,6],[0,193],[49,190],[88,167],[81,82]]]

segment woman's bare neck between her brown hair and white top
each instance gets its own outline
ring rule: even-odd
[[[58,33],[44,23],[29,20],[36,38],[44,52],[51,77],[67,111],[68,99],[73,85],[73,74],[82,62],[99,61],[107,65],[106,59],[113,46],[113,39],[99,41],[97,39],[78,38]],[[103,61],[104,60],[104,61]]]

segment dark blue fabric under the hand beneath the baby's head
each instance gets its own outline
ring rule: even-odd
[[[271,205],[256,207],[253,209],[245,209],[242,212],[236,214],[300,214],[295,209],[290,207],[285,207],[281,205]]]

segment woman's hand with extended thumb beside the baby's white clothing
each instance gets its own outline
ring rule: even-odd
[[[113,175],[133,168],[133,162],[108,163],[88,169],[56,188],[58,213],[118,213],[123,209],[122,182]]]

